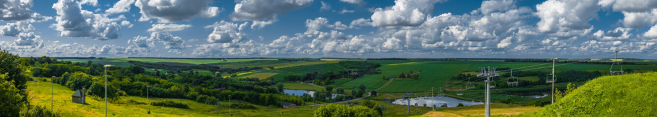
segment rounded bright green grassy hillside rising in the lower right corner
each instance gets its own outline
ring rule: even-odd
[[[657,73],[602,76],[526,116],[657,116]]]

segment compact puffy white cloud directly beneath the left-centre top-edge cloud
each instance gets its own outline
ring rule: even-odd
[[[238,29],[238,24],[231,22],[221,20],[221,22],[215,22],[214,24],[208,25],[205,28],[214,29],[214,31],[208,35],[208,42],[229,43],[240,42],[242,39],[244,39],[244,33],[242,33],[242,30]]]

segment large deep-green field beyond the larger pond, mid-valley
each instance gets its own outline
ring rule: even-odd
[[[459,61],[369,61],[381,63],[381,74],[369,75],[354,80],[344,85],[346,88],[355,88],[360,84],[365,84],[368,89],[376,89],[383,86],[387,81],[382,77],[394,78],[401,73],[408,74],[411,71],[420,76],[418,80],[396,78],[388,86],[378,90],[378,92],[430,92],[431,87],[441,87],[445,85],[447,78],[453,76],[470,64]]]

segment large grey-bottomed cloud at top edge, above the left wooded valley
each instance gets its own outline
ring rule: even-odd
[[[221,10],[218,7],[210,7],[210,0],[137,0],[135,6],[141,10],[139,21],[147,21],[151,18],[158,22],[174,22],[179,20],[190,20],[194,16],[212,18],[217,16]]]

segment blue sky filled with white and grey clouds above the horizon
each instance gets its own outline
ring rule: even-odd
[[[0,0],[0,49],[160,58],[657,57],[654,0]],[[592,56],[597,55],[597,56]]]

